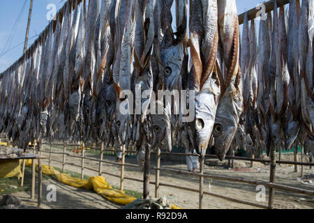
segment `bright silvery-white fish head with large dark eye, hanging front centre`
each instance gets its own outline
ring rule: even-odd
[[[209,144],[211,132],[214,128],[216,116],[216,102],[210,91],[201,91],[195,97],[195,150],[204,155]]]

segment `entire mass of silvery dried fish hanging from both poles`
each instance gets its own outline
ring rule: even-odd
[[[261,20],[258,47],[246,15],[241,51],[235,0],[79,2],[2,74],[0,132],[14,145],[103,141],[134,146],[142,165],[147,146],[214,146],[223,160],[313,144],[313,1]]]

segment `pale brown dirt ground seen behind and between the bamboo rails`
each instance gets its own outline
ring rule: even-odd
[[[48,146],[44,146],[44,150],[48,150]],[[54,148],[54,151],[61,151],[61,149]],[[95,153],[85,153],[88,157],[98,158],[99,155]],[[48,157],[48,153],[43,153]],[[115,157],[110,155],[104,155],[104,160],[115,161]],[[282,160],[291,160],[292,155],[283,155]],[[52,154],[52,160],[62,160],[62,155]],[[66,157],[66,162],[71,162],[80,165],[81,159],[75,157]],[[126,157],[126,163],[136,164],[135,157]],[[45,160],[43,164],[48,164]],[[269,166],[255,162],[254,167],[250,168],[251,162],[236,161],[236,165],[241,167],[239,169],[228,169],[224,167],[218,167],[214,165],[220,165],[220,162],[216,160],[206,160],[204,167],[204,174],[220,174],[223,176],[232,176],[239,178],[246,178],[251,180],[269,180]],[[84,160],[85,167],[92,169],[98,169],[98,162],[91,160]],[[52,162],[53,167],[61,168],[61,163]],[[154,160],[151,161],[151,166],[156,166]],[[169,160],[161,160],[161,167],[168,167],[174,169],[186,170],[185,162],[173,162]],[[301,169],[301,167],[299,167]],[[103,169],[112,174],[120,174],[121,167],[113,164],[103,163]],[[80,167],[74,167],[73,165],[66,164],[67,171],[74,171],[80,173]],[[96,176],[96,171],[90,171],[88,169],[84,170],[84,174],[87,176]],[[106,178],[110,185],[115,185],[119,187],[120,178],[114,176],[102,175]],[[125,176],[130,178],[142,179],[143,174],[140,168],[135,167],[125,167]],[[312,181],[309,181],[312,180]],[[155,181],[155,171],[151,170],[151,181]],[[292,187],[299,187],[306,190],[314,190],[314,168],[304,167],[304,177],[301,178],[300,174],[294,173],[294,166],[292,165],[278,165],[276,166],[276,183],[283,185],[290,185]],[[133,180],[125,180],[124,187],[127,190],[135,190],[137,192],[142,192],[143,184]],[[160,182],[181,185],[184,187],[189,187],[198,190],[199,188],[199,178],[194,176],[186,176],[182,174],[173,174],[170,172],[161,171],[160,172]],[[304,183],[310,182],[310,183]],[[57,187],[57,202],[48,202],[45,197],[47,194],[47,185],[56,185]],[[225,195],[227,197],[232,197],[235,199],[243,199],[245,201],[251,201],[255,203],[260,203],[267,205],[268,203],[268,189],[266,189],[265,201],[256,201],[257,190],[255,185],[248,185],[244,183],[232,183],[223,180],[214,180],[204,178],[204,190],[207,192],[212,192],[215,194]],[[154,197],[155,186],[150,186],[150,195]],[[21,197],[23,203],[29,203],[29,205],[36,205],[36,201],[29,200],[29,194],[26,192],[19,192],[13,194]],[[185,190],[179,190],[173,187],[160,187],[160,197],[166,197],[170,203],[174,203],[176,206],[187,209],[198,208],[199,194],[196,192],[188,192]],[[57,180],[43,180],[43,208],[119,208],[120,206],[116,203],[105,200],[100,195],[95,192],[91,192],[84,189],[77,189],[75,187],[70,187],[68,185],[63,185],[57,182]],[[314,208],[314,197],[294,194],[293,192],[285,192],[283,190],[275,191],[275,208]],[[247,206],[241,203],[234,203],[232,201],[226,201],[224,199],[211,197],[204,195],[203,199],[204,209],[244,209],[244,208],[255,208],[252,206]]]

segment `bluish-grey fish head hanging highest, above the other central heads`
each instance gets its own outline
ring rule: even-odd
[[[163,77],[166,89],[179,89],[181,85],[181,67],[184,61],[184,45],[174,43],[173,34],[167,29],[163,37],[160,59],[163,63]]]

